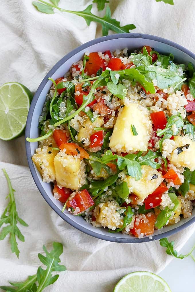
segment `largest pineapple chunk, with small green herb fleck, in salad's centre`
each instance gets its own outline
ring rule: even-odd
[[[133,134],[132,126],[137,135]],[[148,110],[137,103],[129,103],[118,114],[109,146],[113,152],[146,151],[151,131]]]

